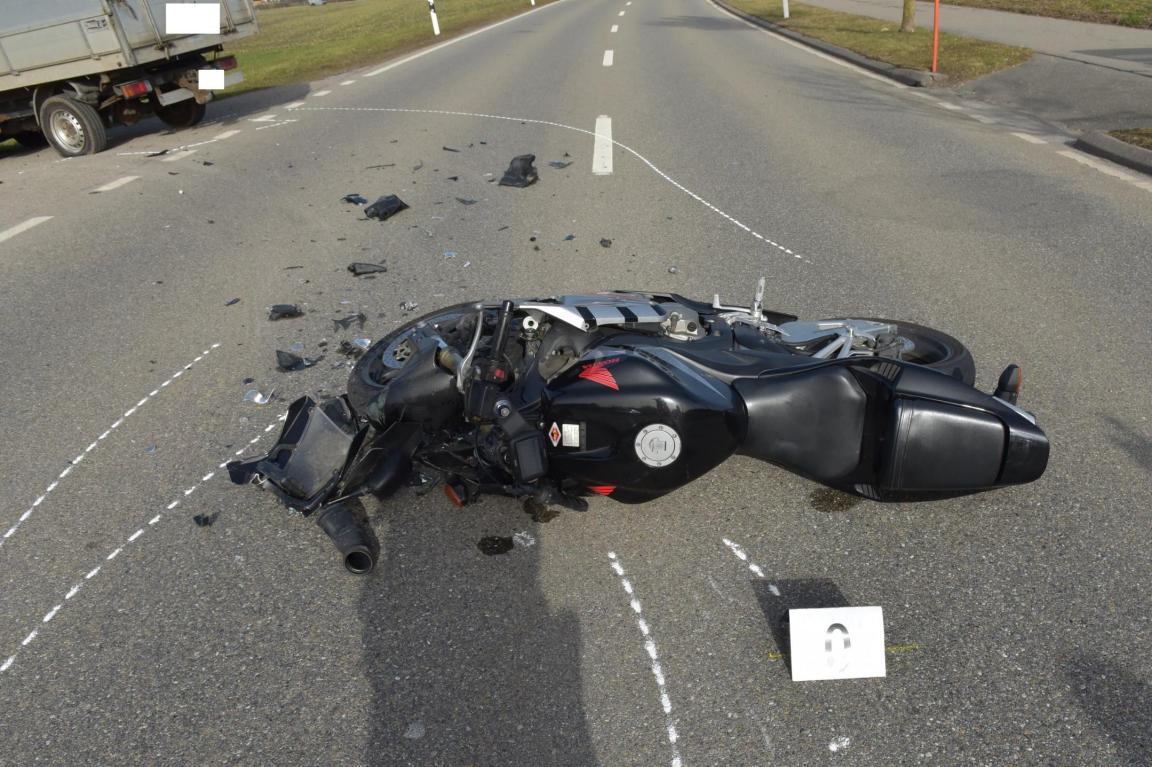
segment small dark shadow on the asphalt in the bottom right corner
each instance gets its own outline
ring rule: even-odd
[[[1068,665],[1073,697],[1121,751],[1126,764],[1152,765],[1152,689],[1111,660],[1077,651]]]

